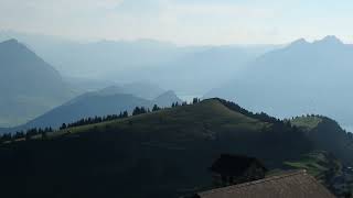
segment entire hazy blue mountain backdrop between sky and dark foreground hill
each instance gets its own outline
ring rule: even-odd
[[[3,34],[0,34],[0,38],[1,35],[3,37]],[[83,94],[109,85],[122,85],[119,88],[121,92],[148,100],[154,99],[164,92],[164,89],[172,89],[181,95],[202,95],[212,89],[205,98],[226,98],[253,111],[266,111],[280,118],[303,113],[325,114],[338,120],[343,127],[353,125],[351,120],[353,109],[350,108],[353,94],[349,91],[353,85],[351,80],[353,46],[343,44],[334,36],[327,36],[312,43],[298,40],[282,48],[278,48],[279,46],[178,47],[170,43],[149,40],[83,44],[55,37],[44,37],[43,42],[40,42],[38,36],[17,36],[30,43],[28,45],[31,48],[40,52],[66,74],[75,73],[72,67],[83,76],[87,72],[104,76],[104,79],[95,81],[89,78],[81,80],[65,77],[63,80],[51,65],[26,46],[14,40],[4,42],[2,62],[9,61],[6,57],[12,57],[13,62],[8,62],[7,65],[11,63],[28,66],[31,63],[42,66],[31,67],[30,72],[20,72],[20,68],[30,67],[11,67],[17,70],[10,72],[7,68],[1,73],[3,82],[0,90],[7,97],[0,98],[1,109],[4,109],[1,112],[3,116],[0,116],[0,127],[23,123],[62,105],[72,98],[72,90]],[[4,45],[6,43],[8,45]],[[15,56],[13,54],[9,56],[6,54],[10,52],[7,50],[9,44],[21,46],[18,48],[25,48],[25,52],[31,53],[21,55],[19,50],[13,53]],[[29,54],[34,58],[25,59]],[[17,63],[20,59],[23,62]],[[60,62],[61,59],[63,62]],[[47,67],[44,69],[43,65]],[[2,66],[1,69],[4,68]],[[104,74],[98,74],[100,72]],[[23,73],[26,75],[20,76]],[[9,81],[12,88],[7,85]],[[117,81],[122,82],[117,84]],[[130,84],[131,81],[139,82]],[[35,91],[30,87],[35,87]],[[41,97],[41,95],[46,96]],[[50,96],[53,99],[47,99]],[[28,106],[28,102],[31,105]]]

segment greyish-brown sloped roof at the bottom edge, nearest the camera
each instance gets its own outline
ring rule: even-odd
[[[200,198],[334,198],[306,170],[197,194]]]

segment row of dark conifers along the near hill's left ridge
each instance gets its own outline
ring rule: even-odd
[[[200,102],[200,99],[195,98],[193,99],[192,103],[196,103]],[[182,103],[178,103],[178,102],[173,102],[171,108],[175,108],[179,106],[186,106],[188,102],[182,102]],[[143,113],[148,113],[148,112],[154,112],[154,111],[159,111],[162,108],[158,107],[157,105],[154,105],[152,107],[152,110],[150,110],[149,108],[145,108],[145,107],[136,107],[132,111],[132,116],[138,116],[138,114],[143,114]],[[113,120],[118,120],[118,119],[125,119],[128,118],[129,113],[128,111],[124,111],[120,112],[119,114],[108,114],[105,117],[88,117],[88,118],[84,118],[81,119],[78,121],[72,122],[72,123],[63,123],[58,130],[66,130],[66,129],[71,129],[71,128],[76,128],[76,127],[82,127],[82,125],[87,125],[87,124],[95,124],[95,123],[100,123],[100,122],[106,122],[106,121],[113,121]],[[42,139],[46,139],[47,138],[47,133],[52,133],[55,130],[53,130],[52,128],[33,128],[33,129],[29,129],[26,131],[19,131],[13,133],[4,133],[2,135],[0,135],[0,144],[4,143],[4,142],[12,142],[12,141],[17,141],[17,140],[31,140],[34,138],[42,138]]]

